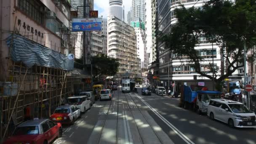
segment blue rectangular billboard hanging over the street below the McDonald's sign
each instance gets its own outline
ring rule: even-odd
[[[101,31],[102,18],[73,18],[72,32]]]

